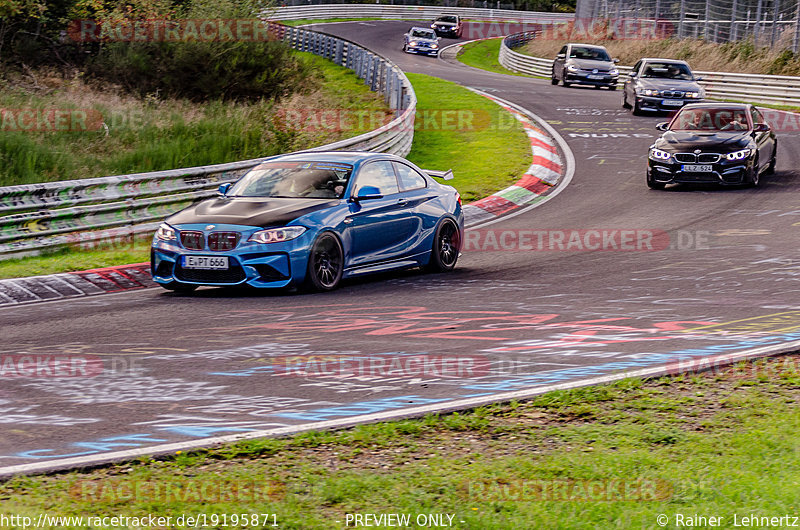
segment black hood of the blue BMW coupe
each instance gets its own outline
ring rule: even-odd
[[[170,216],[170,225],[217,223],[258,226],[283,226],[307,213],[339,204],[337,199],[283,199],[267,197],[229,197],[208,199]]]

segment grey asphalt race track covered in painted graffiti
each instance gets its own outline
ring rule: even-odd
[[[652,191],[645,157],[663,116],[631,116],[619,91],[404,54],[409,25],[315,29],[547,120],[576,159],[560,195],[483,227],[452,274],[326,294],[145,289],[0,309],[5,358],[62,355],[88,375],[4,378],[0,473],[800,349],[800,132],[778,131],[777,172],[757,189]],[[606,250],[588,250],[589,234]],[[525,250],[528,237],[545,250]]]

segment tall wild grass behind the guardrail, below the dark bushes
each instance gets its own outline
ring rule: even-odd
[[[300,109],[388,113],[382,98],[352,71],[309,53],[296,52],[317,72],[313,87],[280,101],[256,103],[161,100],[120,95],[79,77],[47,72],[36,87],[18,78],[0,91],[9,109],[82,109],[102,117],[96,130],[0,135],[0,186],[121,175],[245,160],[304,149],[365,130],[304,127],[280,116]],[[38,88],[37,88],[38,87]],[[100,125],[98,122],[96,125]],[[366,123],[368,125],[368,123]]]

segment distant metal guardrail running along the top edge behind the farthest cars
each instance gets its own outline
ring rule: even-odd
[[[326,18],[386,18],[399,20],[433,19],[441,14],[459,15],[475,20],[519,21],[542,23],[566,21],[574,13],[544,13],[511,9],[485,9],[446,6],[393,6],[380,4],[321,4],[285,6],[265,12],[270,20],[326,19]]]

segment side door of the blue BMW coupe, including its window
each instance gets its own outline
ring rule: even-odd
[[[381,160],[362,166],[355,177],[353,196],[358,197],[367,187],[381,197],[350,202],[345,219],[350,267],[402,257],[418,224],[408,199],[400,193],[392,162]]]

